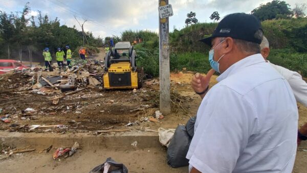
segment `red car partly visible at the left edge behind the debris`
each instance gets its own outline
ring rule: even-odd
[[[0,74],[4,74],[12,70],[24,69],[29,69],[29,67],[13,59],[0,59]]]

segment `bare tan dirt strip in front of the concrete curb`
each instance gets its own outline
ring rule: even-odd
[[[115,161],[123,163],[128,172],[132,173],[188,172],[187,166],[181,168],[168,166],[164,148],[78,150],[72,157],[60,161],[53,160],[51,154],[27,153],[0,161],[0,166],[1,172],[90,172],[110,156]]]

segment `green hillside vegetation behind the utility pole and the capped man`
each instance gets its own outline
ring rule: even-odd
[[[216,26],[217,23],[200,23],[170,33],[171,71],[187,68],[189,71],[206,73],[210,69],[210,47],[197,40],[210,35]],[[270,42],[269,60],[307,76],[307,18],[266,20],[262,22],[262,27]],[[145,73],[159,75],[158,37],[153,36],[135,45],[135,48],[141,57],[138,65],[144,67]]]

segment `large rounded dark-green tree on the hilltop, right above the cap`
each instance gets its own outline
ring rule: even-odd
[[[266,5],[261,4],[251,11],[251,14],[258,17],[261,21],[271,20],[274,18],[290,18],[293,12],[290,5],[284,1],[274,0]]]

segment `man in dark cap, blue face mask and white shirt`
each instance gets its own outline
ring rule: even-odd
[[[287,80],[261,56],[262,36],[254,16],[234,13],[202,40],[212,44],[209,61],[221,75],[210,91],[207,84],[198,92],[208,91],[187,154],[190,172],[292,171],[296,101]]]

